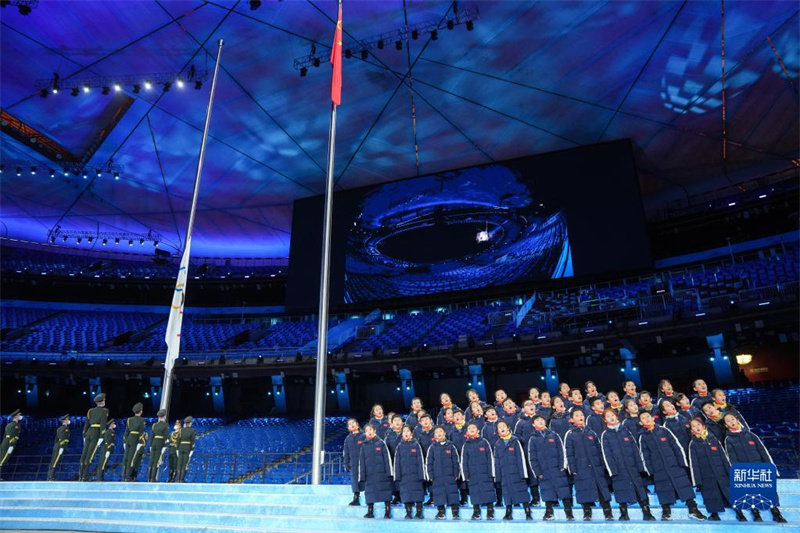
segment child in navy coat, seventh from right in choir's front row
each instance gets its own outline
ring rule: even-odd
[[[504,420],[497,423],[497,435],[499,439],[494,447],[494,464],[506,504],[503,520],[513,519],[513,508],[518,504],[522,504],[525,510],[525,519],[533,520],[528,491],[528,466],[522,443],[511,434],[511,428]]]

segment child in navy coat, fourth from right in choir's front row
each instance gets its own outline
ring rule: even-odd
[[[604,418],[606,429],[600,435],[600,451],[614,488],[614,500],[619,505],[619,519],[630,520],[628,504],[638,502],[642,507],[643,519],[655,520],[650,512],[647,489],[642,480],[642,474],[646,472],[636,439],[627,429],[622,428],[619,417],[613,410],[607,409]]]

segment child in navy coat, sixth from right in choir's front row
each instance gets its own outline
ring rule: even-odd
[[[553,507],[561,500],[567,520],[574,520],[564,443],[558,433],[547,429],[541,415],[533,417],[533,433],[527,449],[530,474],[539,480],[539,491],[545,502],[544,519],[553,519]]]

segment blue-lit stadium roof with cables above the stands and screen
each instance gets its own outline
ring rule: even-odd
[[[4,4],[0,236],[180,249],[222,38],[193,253],[288,256],[292,203],[323,192],[335,2]],[[619,138],[648,205],[798,165],[796,2],[345,0],[343,20],[337,190]]]

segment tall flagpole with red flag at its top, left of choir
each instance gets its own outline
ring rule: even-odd
[[[342,47],[342,0],[339,0],[339,19],[336,23],[336,34],[333,39],[331,62],[333,63],[334,80],[337,69],[339,73],[339,90],[341,90],[341,47]],[[338,61],[336,58],[338,53]],[[334,81],[333,87],[336,86]],[[333,218],[333,160],[336,151],[336,106],[338,97],[331,96],[331,125],[328,132],[328,173],[325,179],[325,212],[322,229],[322,272],[319,283],[319,323],[317,324],[317,372],[314,391],[314,441],[311,452],[311,484],[322,482],[322,463],[325,444],[325,385],[328,367],[328,303],[330,299],[331,268],[331,222]]]

